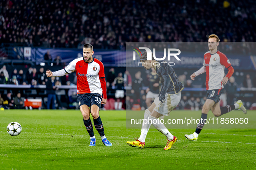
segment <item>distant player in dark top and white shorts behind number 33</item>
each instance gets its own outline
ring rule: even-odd
[[[115,93],[115,98],[117,99],[117,101],[115,102],[115,110],[121,110],[123,105],[122,100],[124,97],[124,81],[122,76],[122,72],[118,73],[118,77],[116,77],[113,82],[117,86],[117,90]]]

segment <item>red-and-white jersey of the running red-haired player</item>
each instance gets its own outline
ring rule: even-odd
[[[204,54],[204,66],[206,67],[206,89],[222,89],[221,80],[224,78],[224,69],[231,67],[230,61],[225,54],[219,50],[215,54],[211,54],[210,51]],[[232,73],[231,75],[232,76]],[[227,75],[228,78],[230,76]]]

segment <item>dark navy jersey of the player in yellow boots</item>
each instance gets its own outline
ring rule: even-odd
[[[184,85],[178,81],[178,77],[175,74],[172,66],[169,66],[166,61],[156,63],[156,73],[162,82],[161,93],[177,94],[184,89]],[[168,79],[169,78],[169,79]],[[165,84],[165,81],[170,82],[169,86]]]

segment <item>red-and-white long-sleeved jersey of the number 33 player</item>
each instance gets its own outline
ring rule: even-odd
[[[76,72],[77,94],[97,93],[107,98],[104,66],[99,60],[93,58],[86,63],[83,57],[77,58],[65,67],[65,72]]]

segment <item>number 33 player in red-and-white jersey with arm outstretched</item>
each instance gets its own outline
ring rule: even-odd
[[[111,146],[112,144],[105,136],[103,123],[99,116],[101,104],[106,104],[107,102],[104,66],[103,63],[92,57],[93,54],[93,46],[84,44],[83,57],[71,61],[65,69],[56,72],[47,71],[46,76],[60,77],[76,72],[78,104],[84,118],[84,125],[91,138],[89,146],[95,146],[96,144],[90,113],[93,117],[95,129],[99,132],[103,144]],[[103,98],[101,97],[102,94]]]

